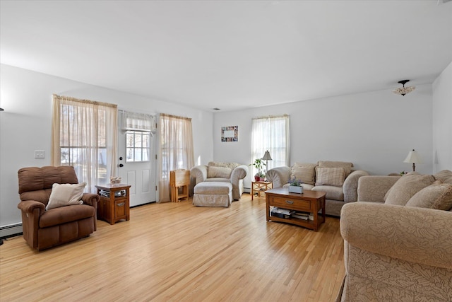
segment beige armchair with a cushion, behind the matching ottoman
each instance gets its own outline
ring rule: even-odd
[[[244,192],[243,179],[248,174],[248,166],[239,163],[210,161],[208,165],[196,165],[190,170],[194,185],[201,182],[230,182],[232,199],[239,200]]]

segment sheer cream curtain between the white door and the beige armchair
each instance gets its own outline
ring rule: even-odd
[[[191,119],[160,114],[159,198],[169,202],[169,171],[194,166]]]

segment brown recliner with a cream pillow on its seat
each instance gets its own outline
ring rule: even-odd
[[[51,248],[96,231],[97,194],[83,193],[83,204],[45,209],[54,183],[78,183],[73,167],[21,168],[18,178],[23,238],[31,248]]]

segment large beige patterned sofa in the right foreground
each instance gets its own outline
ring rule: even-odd
[[[359,178],[336,301],[452,301],[452,172],[407,177]]]

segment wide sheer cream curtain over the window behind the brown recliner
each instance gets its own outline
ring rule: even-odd
[[[52,165],[72,165],[86,191],[116,176],[117,105],[53,95]]]

